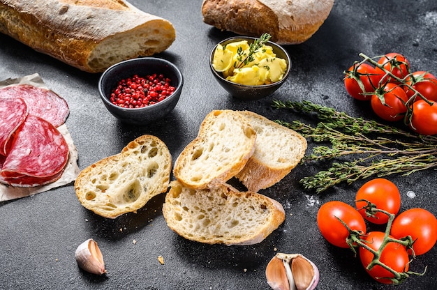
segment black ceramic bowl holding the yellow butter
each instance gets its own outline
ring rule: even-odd
[[[227,38],[218,44],[226,45],[228,43],[234,43],[241,40],[247,40],[247,43],[250,44],[253,43],[255,39],[257,38],[237,36],[237,37]],[[283,49],[283,47],[277,45],[276,43],[272,43],[268,41],[266,45],[269,45],[273,48],[273,52],[276,54],[277,57],[286,60],[287,69],[283,75],[283,78],[278,82],[274,82],[272,84],[262,84],[259,86],[247,86],[244,84],[237,84],[235,82],[230,82],[227,79],[225,79],[222,73],[214,70],[214,67],[212,66],[212,62],[214,59],[214,52],[216,51],[217,45],[214,47],[214,49],[212,49],[211,56],[209,58],[209,68],[211,68],[212,74],[216,78],[217,82],[221,84],[221,86],[223,86],[223,89],[228,91],[230,95],[240,100],[260,100],[262,98],[272,95],[272,93],[274,93],[277,89],[279,89],[279,87],[282,86],[282,84],[286,81],[288,75],[290,75],[290,68],[291,68],[290,56],[288,55],[286,50]]]

